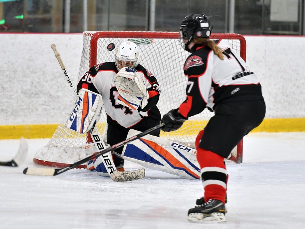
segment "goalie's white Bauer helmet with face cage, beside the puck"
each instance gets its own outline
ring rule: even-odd
[[[137,67],[139,64],[139,48],[131,41],[124,41],[116,49],[115,66],[120,71],[123,67]]]

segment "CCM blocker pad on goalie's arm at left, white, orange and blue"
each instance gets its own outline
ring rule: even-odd
[[[77,133],[86,133],[92,128],[94,122],[98,122],[102,106],[103,101],[100,94],[81,89],[66,126]]]

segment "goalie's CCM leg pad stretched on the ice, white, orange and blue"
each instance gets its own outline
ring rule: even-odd
[[[141,132],[131,129],[127,138],[138,133]],[[126,144],[122,158],[187,179],[201,178],[196,149],[149,134]]]

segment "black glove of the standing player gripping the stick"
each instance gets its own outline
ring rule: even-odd
[[[178,108],[169,111],[167,114],[163,115],[161,123],[165,125],[162,127],[163,131],[169,132],[179,129],[183,122],[188,120],[188,118],[183,117],[180,114],[177,114]]]

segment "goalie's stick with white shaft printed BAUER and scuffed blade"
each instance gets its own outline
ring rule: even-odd
[[[59,62],[60,67],[63,70],[63,73],[64,73],[64,75],[67,79],[67,82],[70,84],[70,87],[73,88],[74,92],[77,95],[77,91],[76,91],[73,83],[71,82],[69,75],[67,74],[65,66],[63,64],[63,60],[61,59],[60,54],[56,49],[56,45],[52,44],[51,48],[52,48],[52,50],[55,54],[56,59]],[[95,143],[95,146],[100,151],[100,150],[105,149],[106,145],[103,142],[102,137],[100,136],[99,132],[94,127],[95,127],[95,125],[93,125],[93,127],[90,131],[90,134],[92,134],[92,140]],[[93,154],[91,156],[93,156],[93,157],[90,158],[89,160],[98,157],[97,154]],[[111,156],[111,154],[110,154],[110,156]],[[138,180],[138,179],[142,179],[142,178],[145,177],[145,169],[138,169],[138,170],[126,171],[126,172],[118,171],[117,168],[115,167],[114,163],[113,163],[112,158],[109,158],[108,155],[102,156],[102,161],[103,161],[103,163],[106,167],[107,172],[109,173],[110,178],[114,181],[120,182],[120,181]],[[28,173],[25,173],[25,174],[28,174]]]

